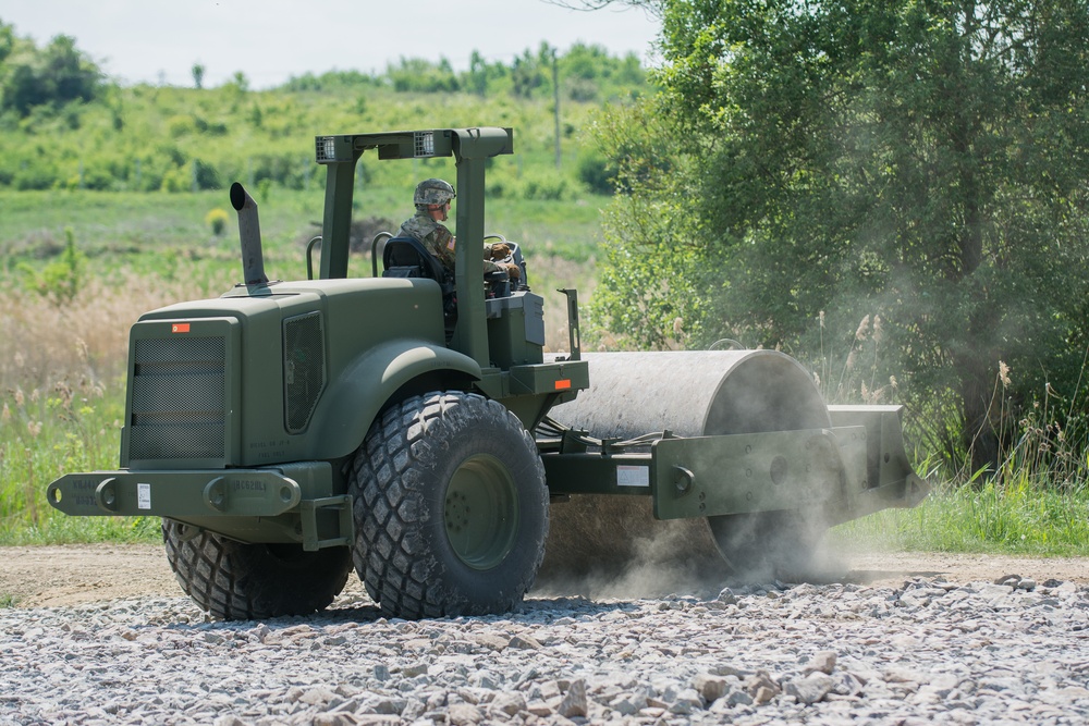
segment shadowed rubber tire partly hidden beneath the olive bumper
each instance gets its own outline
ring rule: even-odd
[[[348,547],[244,544],[162,520],[162,540],[182,590],[212,617],[257,620],[325,610],[352,571]]]

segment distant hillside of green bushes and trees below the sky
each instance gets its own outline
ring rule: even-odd
[[[489,175],[491,193],[608,194],[614,170],[583,132],[597,110],[651,90],[634,54],[586,45],[541,44],[510,63],[474,52],[465,71],[403,58],[382,74],[305,74],[268,90],[241,72],[215,88],[204,76],[194,64],[189,87],[121,86],[74,38],[38,47],[0,20],[0,188],[191,192],[240,180],[302,189],[323,180],[317,134],[494,124],[516,128],[517,159]],[[417,165],[365,158],[359,173],[403,185]]]

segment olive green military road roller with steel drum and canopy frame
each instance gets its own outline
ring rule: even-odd
[[[405,618],[504,612],[542,563],[619,575],[653,542],[662,567],[796,569],[830,526],[921,501],[898,407],[827,406],[788,356],[584,355],[566,290],[568,350],[546,355],[531,275],[481,278],[485,171],[513,150],[495,127],[317,137],[325,214],[298,282],[267,279],[235,184],[244,282],[139,318],[121,467],[61,477],[49,503],[161,517],[185,592],[246,619],[320,611],[353,569]],[[389,233],[350,275],[364,153],[453,158],[453,280]]]

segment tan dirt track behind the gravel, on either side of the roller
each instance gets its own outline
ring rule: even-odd
[[[1006,575],[1089,585],[1089,558],[1029,558],[943,553],[840,555],[844,581],[898,585],[909,577],[954,582]],[[348,587],[362,586],[350,578]],[[114,599],[182,596],[163,550],[150,544],[0,547],[0,601],[16,607],[56,607]]]

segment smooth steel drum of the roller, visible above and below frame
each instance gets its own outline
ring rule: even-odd
[[[680,436],[821,429],[828,408],[809,373],[774,350],[584,354],[590,389],[552,418],[598,439],[669,430]],[[649,496],[572,495],[551,507],[541,579],[632,565],[726,573],[737,540],[772,515],[658,520]],[[749,531],[754,530],[754,531]]]

